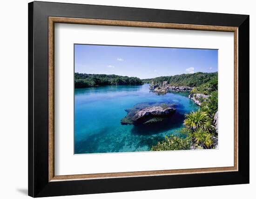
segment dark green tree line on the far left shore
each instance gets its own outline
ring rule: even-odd
[[[143,82],[137,77],[127,77],[107,74],[74,73],[75,88],[107,85],[142,85]]]

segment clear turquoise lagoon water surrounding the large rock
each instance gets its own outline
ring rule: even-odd
[[[151,146],[183,127],[184,114],[198,106],[188,92],[157,95],[142,86],[100,86],[75,89],[74,153],[148,151]],[[143,102],[176,104],[165,122],[150,126],[121,125],[125,109]]]

